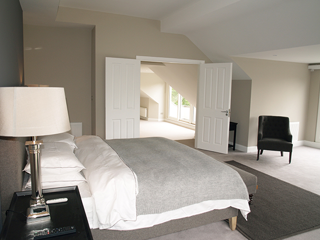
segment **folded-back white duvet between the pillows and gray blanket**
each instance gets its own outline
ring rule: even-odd
[[[119,220],[136,220],[135,196],[138,186],[134,172],[117,153],[97,136],[75,139],[74,153],[86,169],[100,229],[110,228]]]

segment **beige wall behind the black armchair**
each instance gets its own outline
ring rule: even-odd
[[[299,122],[298,140],[304,140],[309,101],[307,64],[245,57],[232,59],[252,79],[247,146],[255,146],[259,115],[288,116]]]

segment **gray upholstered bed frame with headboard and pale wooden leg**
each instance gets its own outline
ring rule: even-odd
[[[11,198],[14,192],[21,191],[23,182],[22,169],[26,164],[26,137],[1,137],[0,136],[0,196],[1,196],[1,214],[4,222],[5,210],[9,208]],[[240,169],[238,169],[240,170]],[[245,174],[246,173],[246,174]],[[248,187],[248,192],[255,192],[256,177],[250,173],[240,170],[240,176]],[[244,176],[243,176],[244,175]],[[255,177],[255,178],[254,178]],[[246,180],[245,180],[246,179]],[[250,179],[248,186],[247,179]],[[255,185],[254,183],[255,179]],[[229,220],[229,226],[232,230],[236,227],[236,217],[238,210],[233,207],[228,207],[220,210],[212,210],[206,213],[175,219],[164,222],[152,227],[118,231],[108,229],[91,229],[92,236],[95,240],[102,239],[148,239],[160,235],[166,235],[173,232],[186,230],[189,228],[209,224],[212,222]],[[3,224],[2,222],[2,224]]]

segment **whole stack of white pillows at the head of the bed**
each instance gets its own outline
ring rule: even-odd
[[[67,132],[37,137],[43,141],[40,146],[42,188],[73,186],[86,181],[80,172],[85,167],[73,153],[77,148],[73,139]],[[23,170],[31,173],[29,162]],[[31,187],[30,178],[25,187]]]

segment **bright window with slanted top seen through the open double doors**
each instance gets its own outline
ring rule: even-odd
[[[168,117],[195,124],[195,106],[169,86]]]

